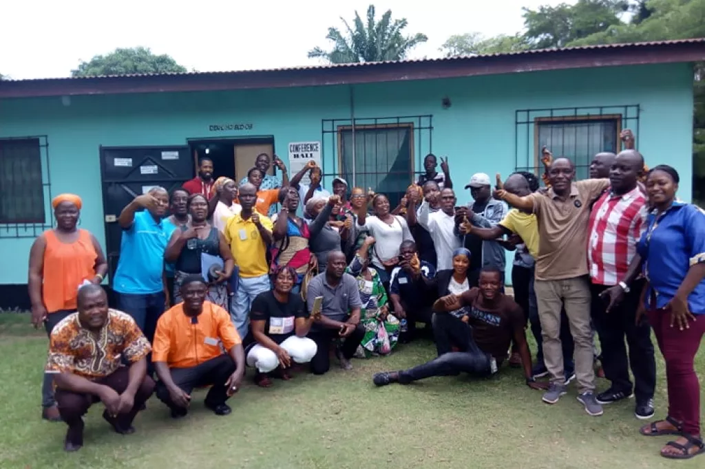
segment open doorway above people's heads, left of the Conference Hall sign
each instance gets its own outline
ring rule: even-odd
[[[189,139],[188,144],[195,168],[198,168],[200,158],[210,158],[214,179],[225,176],[235,182],[247,176],[247,171],[255,166],[257,155],[266,153],[270,160],[274,156],[274,137]],[[274,174],[274,168],[270,166],[267,173]]]

